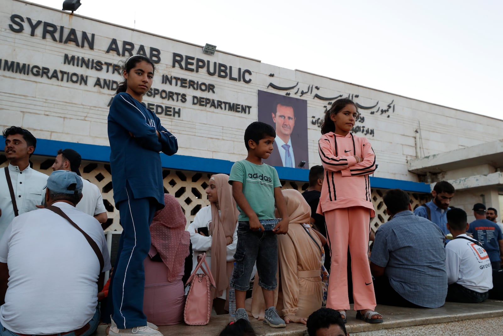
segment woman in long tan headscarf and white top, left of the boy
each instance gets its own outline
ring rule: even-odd
[[[210,205],[197,213],[194,222],[188,227],[193,250],[193,267],[197,265],[197,256],[206,252],[206,262],[216,282],[213,290],[217,314],[225,314],[224,301],[226,289],[234,265],[234,253],[237,244],[237,217],[239,212],[232,197],[232,187],[226,174],[212,175],[208,181],[206,194]]]

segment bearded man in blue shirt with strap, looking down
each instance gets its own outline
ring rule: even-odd
[[[447,181],[437,182],[432,191],[433,199],[427,204],[417,207],[414,214],[437,224],[444,235],[447,235],[449,233],[449,230],[447,230],[447,212],[451,210],[449,203],[454,197],[454,192],[451,183]]]

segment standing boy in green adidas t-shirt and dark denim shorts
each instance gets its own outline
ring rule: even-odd
[[[237,228],[237,248],[234,258],[236,265],[230,286],[236,293],[235,320],[248,314],[244,309],[246,291],[253,266],[257,261],[259,286],[262,287],[266,309],[264,323],[272,327],[284,327],[285,321],[279,317],[274,307],[276,272],[278,270],[278,237],[285,234],[290,222],[285,199],[281,193],[278,172],[262,162],[273,151],[276,132],[271,125],[256,121],[246,127],[244,145],[248,150],[245,160],[234,163],[230,170],[229,183],[239,210]],[[274,220],[274,204],[282,218],[272,230],[265,230],[260,220]],[[267,227],[267,226],[266,226]]]

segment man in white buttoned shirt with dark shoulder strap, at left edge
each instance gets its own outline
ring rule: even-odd
[[[30,157],[37,147],[37,139],[30,131],[12,126],[4,129],[3,135],[5,138],[4,151],[7,160],[9,160],[9,166],[0,169],[0,209],[2,209],[0,238],[14,217],[36,210],[37,206],[42,204],[45,181],[48,177],[30,167]],[[6,174],[6,169],[8,174]],[[12,184],[14,202],[9,190],[7,175],[9,175]]]

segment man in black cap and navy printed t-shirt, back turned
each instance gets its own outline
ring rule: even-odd
[[[478,240],[486,250],[491,260],[492,269],[497,271],[503,262],[503,235],[501,229],[494,222],[485,218],[485,206],[477,203],[473,206],[473,216],[475,221],[470,223],[466,232],[471,233],[473,238]]]

